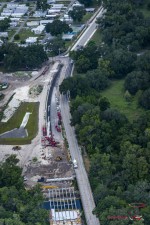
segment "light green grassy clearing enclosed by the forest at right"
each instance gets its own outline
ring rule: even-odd
[[[106,97],[112,108],[118,109],[121,113],[124,113],[126,117],[133,121],[139,117],[143,110],[138,107],[138,97],[132,97],[131,102],[127,102],[124,98],[124,80],[113,81],[112,85],[102,92],[102,96]]]

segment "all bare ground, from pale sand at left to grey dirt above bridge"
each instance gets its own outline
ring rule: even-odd
[[[38,134],[32,140],[31,144],[20,145],[21,149],[17,151],[13,150],[14,146],[12,145],[0,145],[1,161],[10,154],[16,154],[19,158],[19,164],[23,168],[23,175],[27,187],[34,186],[41,177],[44,177],[44,181],[46,181],[46,179],[51,178],[73,177],[74,174],[72,164],[68,160],[68,153],[63,145],[63,139],[58,140],[57,147],[47,146],[43,148],[41,145],[42,127],[45,124],[45,99],[48,85],[53,74],[57,71],[59,63],[60,61],[56,61],[54,64],[50,64],[49,69],[42,76],[40,74],[45,70],[45,67],[38,72],[34,72],[32,77],[27,76],[26,78],[22,76],[22,78],[18,78],[16,75],[6,75],[5,79],[2,79],[2,81],[9,83],[9,87],[5,90],[5,99],[3,102],[0,102],[1,106],[7,103],[14,92],[16,93],[17,99],[21,101],[40,103]],[[39,95],[29,94],[29,90],[33,90],[37,85],[42,85],[43,89],[41,93]],[[56,185],[54,182],[42,182],[41,184]],[[57,182],[58,187],[68,187],[71,184],[72,180]]]

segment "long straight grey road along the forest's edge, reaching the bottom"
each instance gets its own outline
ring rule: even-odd
[[[66,95],[61,95],[61,113],[66,131],[66,136],[69,144],[69,150],[72,160],[76,159],[78,168],[75,169],[78,187],[81,195],[82,205],[86,217],[87,225],[100,225],[99,220],[93,215],[92,211],[95,208],[95,203],[92,195],[92,190],[89,184],[88,176],[84,168],[84,163],[80,148],[77,143],[74,128],[70,125],[70,110]]]

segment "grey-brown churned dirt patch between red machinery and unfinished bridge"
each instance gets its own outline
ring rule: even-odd
[[[46,179],[54,178],[68,178],[73,174],[72,163],[68,161],[67,155],[65,155],[63,148],[47,147],[41,149],[41,157],[39,159],[33,158],[24,172],[26,177],[26,185],[34,185],[38,179],[44,178],[42,185],[54,185],[55,182],[46,182]],[[61,182],[57,186],[62,187],[70,182]],[[56,185],[56,184],[55,184]]]

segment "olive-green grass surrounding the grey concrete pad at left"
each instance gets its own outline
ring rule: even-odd
[[[26,129],[28,137],[26,138],[5,138],[0,139],[0,144],[28,144],[36,136],[38,131],[38,112],[39,103],[24,102],[7,123],[0,123],[0,133],[19,128],[26,112],[31,112]]]

